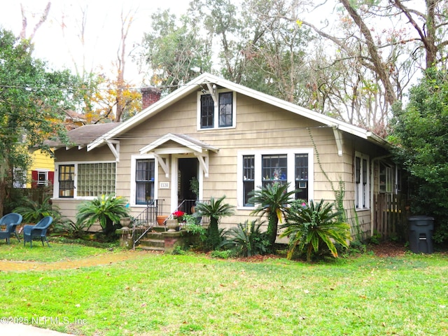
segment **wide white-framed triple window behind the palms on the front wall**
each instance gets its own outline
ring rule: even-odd
[[[289,183],[291,191],[300,190],[295,194],[297,200],[309,200],[313,196],[310,187],[313,183],[312,153],[312,148],[239,152],[239,207],[254,207],[255,204],[249,202],[251,192],[272,183]]]

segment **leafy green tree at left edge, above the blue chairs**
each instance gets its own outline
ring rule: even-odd
[[[29,148],[65,139],[64,111],[73,108],[69,71],[49,71],[31,56],[32,45],[0,29],[0,214],[13,168],[27,169]]]

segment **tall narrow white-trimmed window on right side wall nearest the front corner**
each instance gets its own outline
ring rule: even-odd
[[[369,157],[355,153],[355,208],[370,207],[370,169]]]

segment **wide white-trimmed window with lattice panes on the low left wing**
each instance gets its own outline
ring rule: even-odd
[[[58,166],[59,197],[98,197],[116,192],[116,162]]]

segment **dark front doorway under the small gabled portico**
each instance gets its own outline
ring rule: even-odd
[[[179,158],[178,202],[179,210],[191,214],[191,207],[195,205],[197,194],[192,188],[197,181],[199,162],[197,158]]]

